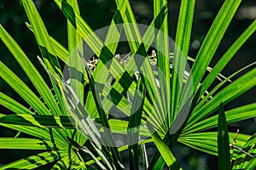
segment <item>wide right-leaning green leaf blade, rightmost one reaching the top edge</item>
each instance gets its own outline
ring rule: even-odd
[[[201,82],[201,78],[204,76],[207,66],[212,60],[222,37],[224,37],[224,32],[230,25],[230,21],[236,13],[236,9],[240,3],[241,0],[225,1],[222,8],[219,10],[218,15],[213,21],[212,26],[207,33],[207,37],[202,42],[201,48],[195,58],[195,63],[191,68],[189,77],[189,82],[193,82],[193,85],[189,82],[186,84],[181,105],[184,105],[187,99],[189,99],[191,89],[195,91]]]

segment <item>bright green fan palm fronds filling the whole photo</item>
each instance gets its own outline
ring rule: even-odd
[[[256,21],[248,26],[218,63],[210,68],[212,57],[241,0],[224,2],[195,59],[188,56],[195,0],[181,2],[173,51],[169,46],[168,8],[165,0],[154,1],[154,20],[143,36],[129,1],[115,2],[117,8],[107,36],[102,41],[81,18],[77,1],[55,0],[67,18],[68,48],[64,48],[49,36],[32,1],[22,1],[30,22],[27,26],[36,37],[41,51],[42,59],[38,59],[49,74],[51,86],[47,85],[19,45],[0,26],[2,41],[40,95],[38,97],[0,62],[3,80],[32,108],[26,108],[1,92],[0,104],[13,113],[1,114],[0,125],[26,133],[31,138],[0,138],[0,149],[43,150],[0,169],[32,169],[51,162],[55,162],[53,169],[124,169],[120,156],[120,152],[124,150],[128,150],[132,169],[139,168],[140,155],[145,169],[161,169],[165,165],[171,169],[180,169],[172,154],[177,142],[212,155],[224,155],[218,150],[224,143],[221,142],[222,139],[217,138],[217,132],[207,130],[226,126],[225,121],[218,123],[215,111],[218,111],[219,105],[227,105],[255,86],[255,68],[230,82],[237,73],[255,63],[230,77],[222,78],[214,88],[210,86],[222,77],[220,72],[224,66],[256,30]],[[121,65],[114,57],[122,31],[125,32],[131,49],[130,59],[125,65]],[[153,42],[157,71],[152,69],[152,64],[155,64],[150,59],[151,56],[148,56]],[[95,71],[88,67],[90,56],[86,56],[84,43],[98,57]],[[173,62],[170,69],[171,59]],[[189,60],[193,62],[191,70],[186,69]],[[61,71],[60,62],[67,66],[67,70]],[[68,71],[68,78],[65,71]],[[111,82],[109,75],[114,78],[114,82]],[[133,78],[134,75],[137,79]],[[113,108],[121,111],[128,120],[109,116]],[[228,123],[256,116],[255,103],[230,111],[223,111],[223,106],[220,108],[221,117],[225,117]],[[113,134],[116,133],[125,134],[127,144],[120,147],[114,144]],[[230,135],[230,138],[224,139],[225,143],[231,144],[236,133],[225,135]],[[236,138],[236,146],[254,156],[254,141],[255,134],[250,136],[240,133]],[[147,143],[154,143],[157,148],[150,162],[145,148]],[[227,144],[223,146],[228,147],[228,150],[230,146]],[[226,156],[224,160],[229,164],[228,159]],[[253,169],[256,165],[253,157],[248,159],[247,154],[235,149],[232,150],[231,159],[235,161],[233,169]]]

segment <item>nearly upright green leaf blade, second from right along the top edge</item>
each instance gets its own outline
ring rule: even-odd
[[[172,118],[177,116],[177,105],[183,88],[183,74],[187,66],[187,55],[189,54],[189,42],[192,31],[195,0],[182,1],[177,21],[177,31],[174,47],[172,68]]]

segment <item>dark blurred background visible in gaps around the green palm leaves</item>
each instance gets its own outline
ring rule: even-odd
[[[53,1],[49,0],[34,0],[38,7],[38,11],[44,20],[44,24],[49,31],[49,35],[55,37],[56,40],[61,42],[67,47],[67,21],[59,8]],[[195,54],[200,47],[203,38],[206,36],[212,21],[224,0],[197,0],[195,7],[195,20],[193,25],[193,33],[191,38],[191,46],[189,56],[195,58]],[[109,26],[115,10],[114,1],[109,0],[79,0],[80,13],[89,25],[94,29],[100,29],[103,26]],[[137,23],[149,25],[153,19],[153,1],[152,0],[132,0],[132,8],[137,18]],[[175,31],[177,26],[179,1],[172,0],[169,3],[169,24],[170,36],[175,39]],[[212,60],[211,65],[214,65],[224,52],[230,47],[230,44],[236,40],[237,37],[256,19],[256,2],[255,0],[242,1],[235,18],[224,35],[220,47]],[[32,32],[26,28],[25,21],[27,21],[26,13],[22,4],[18,0],[0,0],[0,24],[9,31],[9,34],[15,38],[20,47],[26,52],[27,56],[32,60],[33,64],[40,70],[46,77],[43,68],[38,63],[36,56],[39,53],[38,45]],[[255,33],[250,37],[243,47],[239,50],[236,56],[230,61],[223,71],[225,76],[229,76],[234,71],[238,71],[245,65],[251,64],[256,61],[256,36]],[[0,60],[11,68],[12,71],[32,88],[31,82],[21,71],[20,66],[15,61],[12,54],[0,42]],[[244,72],[243,72],[244,73]],[[10,97],[20,100],[24,103],[18,94],[15,94],[12,88],[3,82],[0,77],[0,91],[8,94]],[[253,103],[256,101],[256,89],[249,90],[240,98],[232,101],[226,105],[226,109],[231,109],[240,105]],[[26,105],[26,104],[25,104]],[[0,112],[8,114],[9,111],[0,107]],[[230,125],[230,132],[236,132],[239,127],[241,133],[253,134],[256,131],[255,119],[237,122]],[[16,132],[4,127],[0,127],[0,136],[15,136]],[[151,146],[148,145],[149,150]],[[154,148],[152,147],[152,150]],[[177,144],[174,150],[177,160],[183,169],[217,169],[217,157],[210,156],[197,150],[193,150],[182,144]],[[31,155],[32,152],[27,153],[24,150],[0,150],[0,166],[1,163],[5,164],[10,161],[15,161],[24,156]],[[47,167],[45,167],[47,169]]]

